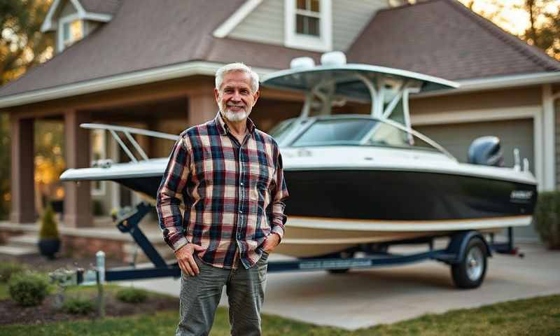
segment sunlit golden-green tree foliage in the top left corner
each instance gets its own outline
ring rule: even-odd
[[[0,85],[52,57],[52,36],[41,33],[51,1],[0,1]]]

